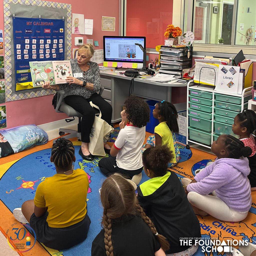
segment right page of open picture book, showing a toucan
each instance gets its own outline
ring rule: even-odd
[[[55,76],[55,84],[66,83],[68,76],[73,76],[71,64],[69,60],[52,61],[53,72]]]

